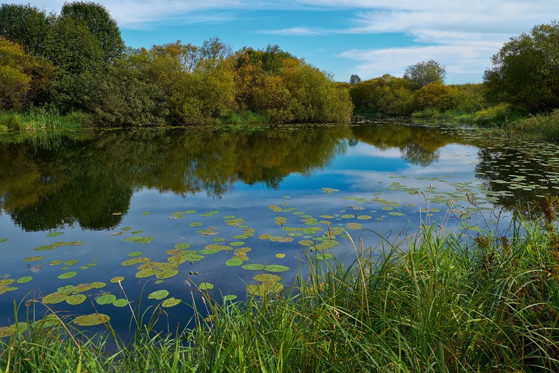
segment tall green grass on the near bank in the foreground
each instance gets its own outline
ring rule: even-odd
[[[246,302],[205,298],[209,318],[157,334],[136,311],[124,344],[64,319],[20,323],[1,339],[6,372],[557,372],[559,238],[551,218],[516,223],[512,237],[423,227],[356,260],[316,260],[291,291]],[[266,286],[266,282],[264,283]],[[32,303],[29,307],[33,307]],[[147,316],[145,316],[147,317]],[[152,318],[153,320],[153,318]],[[147,325],[144,325],[147,324]],[[18,331],[16,331],[18,330]],[[116,353],[106,353],[107,343]]]

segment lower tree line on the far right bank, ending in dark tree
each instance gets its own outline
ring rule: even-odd
[[[382,115],[490,122],[559,108],[559,24],[537,25],[504,43],[483,83],[445,85],[446,69],[432,59],[389,74],[350,78],[356,111]]]

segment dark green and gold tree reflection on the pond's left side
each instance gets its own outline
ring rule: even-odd
[[[276,188],[291,172],[311,174],[345,150],[347,126],[267,129],[252,134],[208,128],[109,130],[57,143],[0,145],[0,202],[24,230],[79,223],[115,227],[133,190],[221,197],[242,181]]]

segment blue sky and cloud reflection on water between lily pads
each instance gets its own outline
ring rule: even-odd
[[[412,234],[421,223],[421,219],[440,223],[447,229],[452,229],[453,225],[458,224],[458,219],[449,213],[444,203],[429,202],[431,207],[436,206],[440,209],[440,212],[433,213],[433,216],[419,213],[419,209],[426,208],[428,204],[421,192],[426,192],[429,198],[435,195],[442,196],[445,201],[452,199],[452,194],[464,196],[467,191],[478,193],[477,188],[481,182],[474,178],[477,148],[451,144],[438,151],[440,153],[437,161],[427,167],[421,167],[402,160],[402,153],[398,148],[382,150],[360,142],[354,146],[348,146],[346,153],[335,157],[324,169],[312,171],[310,176],[298,173],[290,174],[283,178],[275,190],[268,190],[263,183],[246,185],[237,182],[234,184],[233,191],[221,199],[207,197],[205,192],[182,197],[171,192],[160,193],[156,190],[140,189],[133,194],[129,210],[115,231],[121,227],[131,227],[131,231],[142,230],[141,236],[154,237],[154,241],[147,245],[123,242],[124,237],[130,236],[130,231],[122,236],[110,236],[104,230],[82,231],[79,227],[64,227],[62,236],[48,238],[45,237],[46,232],[22,232],[19,227],[15,227],[11,223],[10,217],[4,214],[0,216],[0,237],[8,238],[8,241],[0,244],[0,260],[3,263],[0,265],[0,272],[9,275],[11,279],[27,275],[34,276],[35,279],[29,283],[17,285],[19,289],[13,293],[0,296],[0,309],[2,310],[0,324],[6,324],[4,320],[11,319],[13,316],[11,314],[13,298],[20,298],[27,292],[36,292],[28,297],[41,296],[52,293],[58,286],[103,281],[107,283],[106,288],[92,290],[87,295],[99,295],[110,291],[117,298],[122,297],[118,284],[109,282],[113,276],[124,276],[122,286],[129,299],[138,300],[140,294],[143,294],[142,307],[158,303],[154,300],[147,300],[147,294],[159,289],[168,289],[171,293],[170,296],[191,303],[192,295],[185,281],[213,283],[215,290],[212,290],[211,294],[214,297],[219,297],[220,290],[223,294],[234,293],[244,297],[245,284],[254,283],[252,276],[260,272],[224,265],[226,260],[232,258],[233,251],[205,255],[204,260],[194,262],[194,264],[185,262],[180,265],[181,273],[178,276],[166,279],[161,284],[154,284],[153,279],[149,281],[136,279],[137,269],[135,267],[120,266],[123,260],[128,259],[127,254],[131,251],[142,251],[142,256],[165,262],[169,256],[166,250],[173,248],[175,244],[187,242],[191,245],[189,250],[200,251],[204,246],[213,244],[212,239],[215,237],[226,239],[226,243],[238,241],[232,237],[235,234],[242,234],[242,229],[224,225],[222,216],[226,215],[243,218],[246,225],[256,230],[253,237],[242,240],[245,242],[242,246],[252,248],[247,253],[249,257],[247,263],[289,266],[289,271],[278,273],[287,284],[299,272],[300,263],[297,258],[301,254],[301,246],[298,245],[298,241],[304,238],[293,237],[292,242],[282,243],[262,240],[258,236],[259,234],[286,236],[288,232],[282,231],[282,227],[274,223],[276,216],[286,217],[287,220],[284,224],[286,227],[307,227],[307,225],[302,223],[301,217],[293,212],[272,211],[268,208],[268,205],[272,204],[282,209],[293,207],[296,211],[318,220],[322,220],[319,218],[321,215],[333,216],[333,218],[326,219],[331,221],[332,227],[345,227],[345,224],[349,222],[360,223],[363,228],[368,230],[384,232],[390,236],[389,240],[397,239],[399,231]],[[440,178],[440,176],[444,176],[444,178]],[[429,190],[431,186],[435,189]],[[321,188],[324,187],[335,188],[339,191],[324,193],[321,191]],[[415,188],[418,192],[402,190],[405,187]],[[285,196],[289,196],[289,198]],[[364,198],[368,200],[368,203],[342,197]],[[387,206],[379,202],[372,202],[372,199],[375,198],[397,202],[399,206],[391,211],[383,210],[382,207]],[[467,203],[463,201],[457,202],[456,205],[460,205],[458,214],[467,208]],[[185,214],[183,218],[169,219],[170,213],[188,209],[194,209],[196,213]],[[200,216],[200,213],[212,210],[217,210],[219,213],[210,217]],[[143,216],[141,214],[143,211],[149,211],[151,214]],[[390,212],[401,212],[404,216],[394,216]],[[368,215],[372,218],[368,220],[347,219],[341,217],[344,214]],[[190,223],[193,222],[200,222],[203,225],[202,227],[192,227]],[[476,222],[479,220],[474,218],[473,223]],[[218,227],[219,234],[203,236],[196,232],[196,230],[210,226]],[[324,224],[319,226],[327,229]],[[349,230],[348,232],[358,241],[361,230]],[[84,241],[85,244],[59,247],[52,251],[33,251],[36,246],[50,244],[54,241],[72,240]],[[363,233],[363,240],[365,246],[375,246],[379,243],[379,238],[370,232]],[[332,252],[342,260],[348,255],[351,258],[352,247],[349,241],[339,237],[337,241],[340,241],[340,246],[335,246]],[[286,258],[275,258],[277,253],[285,253]],[[45,259],[41,262],[22,263],[22,258],[32,255],[41,255]],[[73,266],[78,275],[66,281],[58,280],[57,276],[62,273],[61,265],[55,267],[48,265],[48,262],[57,259],[78,260],[78,265]],[[79,269],[81,265],[92,262],[97,265],[89,269]],[[36,265],[41,267],[35,268]],[[198,272],[198,276],[189,275],[189,271]],[[303,272],[305,272],[304,267]],[[198,301],[200,300],[199,295],[195,295],[195,297]],[[52,305],[52,308],[89,313],[94,311],[92,302],[94,302],[94,297],[88,297],[80,307],[70,307],[63,302]],[[138,302],[135,301],[133,305],[136,304]],[[94,306],[97,311],[112,316],[113,324],[118,324],[115,325],[117,330],[123,331],[127,328],[130,317],[128,308],[117,309],[112,305],[101,306],[98,304],[94,304]],[[198,302],[198,307],[201,306],[202,304]],[[188,310],[189,307],[181,305],[167,311],[174,321],[181,321],[184,325],[188,319]]]

